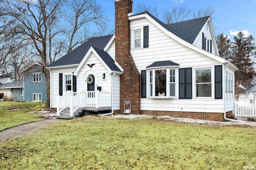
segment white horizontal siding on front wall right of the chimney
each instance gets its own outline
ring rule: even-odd
[[[179,68],[197,68],[200,66],[219,65],[220,62],[207,57],[197,51],[194,51],[170,36],[166,35],[153,23],[148,21],[146,18],[130,21],[131,30],[136,27],[142,27],[144,25],[149,26],[149,48],[145,49],[131,49],[132,58],[136,64],[138,70],[146,70],[146,67],[156,61],[172,61],[180,64]],[[202,32],[201,32],[202,34]],[[206,34],[207,36],[207,34]],[[202,35],[200,41],[200,49],[202,49]],[[207,68],[207,67],[206,67]],[[194,71],[194,70],[193,70]],[[149,73],[147,74],[147,89],[149,87]],[[178,73],[176,74],[178,75]],[[194,75],[192,75],[194,79]],[[212,82],[214,80],[212,79]],[[154,84],[154,83],[153,83]],[[194,111],[194,112],[213,112],[223,113],[223,100],[216,101],[212,95],[210,98],[197,99],[194,92],[194,82],[192,83],[193,88],[193,99],[180,100],[177,98],[142,98],[141,109],[142,110],[159,110],[159,111]],[[214,86],[212,86],[214,88]],[[178,89],[177,89],[178,92]],[[154,94],[154,90],[153,90]],[[148,90],[149,96],[149,90]],[[159,107],[160,106],[160,107]]]

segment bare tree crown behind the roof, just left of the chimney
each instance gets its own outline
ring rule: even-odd
[[[95,0],[75,0],[66,3],[68,10],[64,12],[64,17],[69,25],[66,30],[69,53],[76,45],[91,37],[102,35],[106,30],[106,16],[102,6]]]

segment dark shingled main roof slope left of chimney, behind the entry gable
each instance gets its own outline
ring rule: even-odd
[[[113,34],[91,38],[88,41],[84,42],[82,45],[76,47],[74,50],[70,51],[70,53],[64,55],[54,63],[48,65],[48,67],[79,64],[86,55],[87,51],[90,49],[90,47],[103,50],[112,37]]]

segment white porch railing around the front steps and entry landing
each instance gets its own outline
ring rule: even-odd
[[[110,107],[111,96],[109,92],[81,91],[65,92],[63,96],[57,98],[57,115],[66,107],[70,107],[70,116],[80,107]]]

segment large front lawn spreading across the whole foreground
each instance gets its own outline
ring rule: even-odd
[[[87,117],[0,145],[0,169],[242,169],[256,166],[256,130]]]

